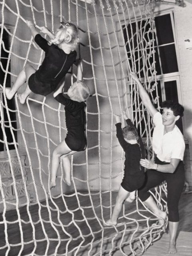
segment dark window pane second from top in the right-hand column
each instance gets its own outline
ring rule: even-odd
[[[178,72],[175,45],[170,44],[159,48],[163,74]]]

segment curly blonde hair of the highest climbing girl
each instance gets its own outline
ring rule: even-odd
[[[79,34],[77,27],[68,22],[61,22],[62,26],[56,30],[55,38],[51,39],[48,44],[56,44],[58,47],[62,48],[61,45],[63,43],[70,44],[71,50],[74,51],[76,46],[79,43]]]

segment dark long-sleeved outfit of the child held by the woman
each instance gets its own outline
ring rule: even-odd
[[[127,119],[126,123],[134,126],[130,119]],[[140,137],[136,144],[126,142],[122,134],[121,123],[116,124],[116,130],[118,141],[125,152],[124,177],[121,186],[126,191],[132,192],[144,184],[144,167],[140,166],[140,159],[145,158],[144,144]]]

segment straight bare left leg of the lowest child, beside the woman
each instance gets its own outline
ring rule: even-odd
[[[118,220],[119,214],[121,212],[123,202],[128,197],[129,193],[130,192],[126,191],[124,188],[122,188],[122,186],[120,186],[118,195],[116,197],[116,204],[114,206],[112,216],[109,220],[106,221],[107,225],[116,225],[117,224],[117,220]]]

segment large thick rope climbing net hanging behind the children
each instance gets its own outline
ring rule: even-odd
[[[135,70],[159,108],[153,1],[98,0],[88,4],[80,0],[14,0],[1,1],[0,7],[0,50],[7,54],[7,64],[3,65],[3,58],[0,62],[4,75],[0,84],[0,142],[6,150],[6,157],[0,158],[0,255],[112,255],[115,250],[122,255],[142,255],[160,238],[162,230],[156,224],[158,216],[138,199],[132,208],[124,204],[117,226],[105,224],[124,170],[114,113],[128,110],[140,135],[146,138],[146,156],[153,159],[152,121],[136,84],[128,79],[128,70]],[[14,109],[5,97],[9,76],[15,81],[26,64],[38,68],[42,62],[43,51],[32,41],[26,19],[52,32],[66,19],[74,22],[80,33],[78,54],[92,97],[86,110],[88,147],[71,158],[70,189],[63,182],[62,163],[56,188],[50,190],[49,186],[52,151],[66,135],[64,106],[52,95],[30,95],[21,105],[16,94]],[[14,24],[12,29],[10,23]],[[9,48],[5,47],[3,31],[9,35]],[[73,82],[75,68],[67,76]],[[17,126],[12,125],[13,113]],[[10,150],[13,145],[14,154]],[[162,196],[166,196],[166,185],[151,193],[166,210]]]

